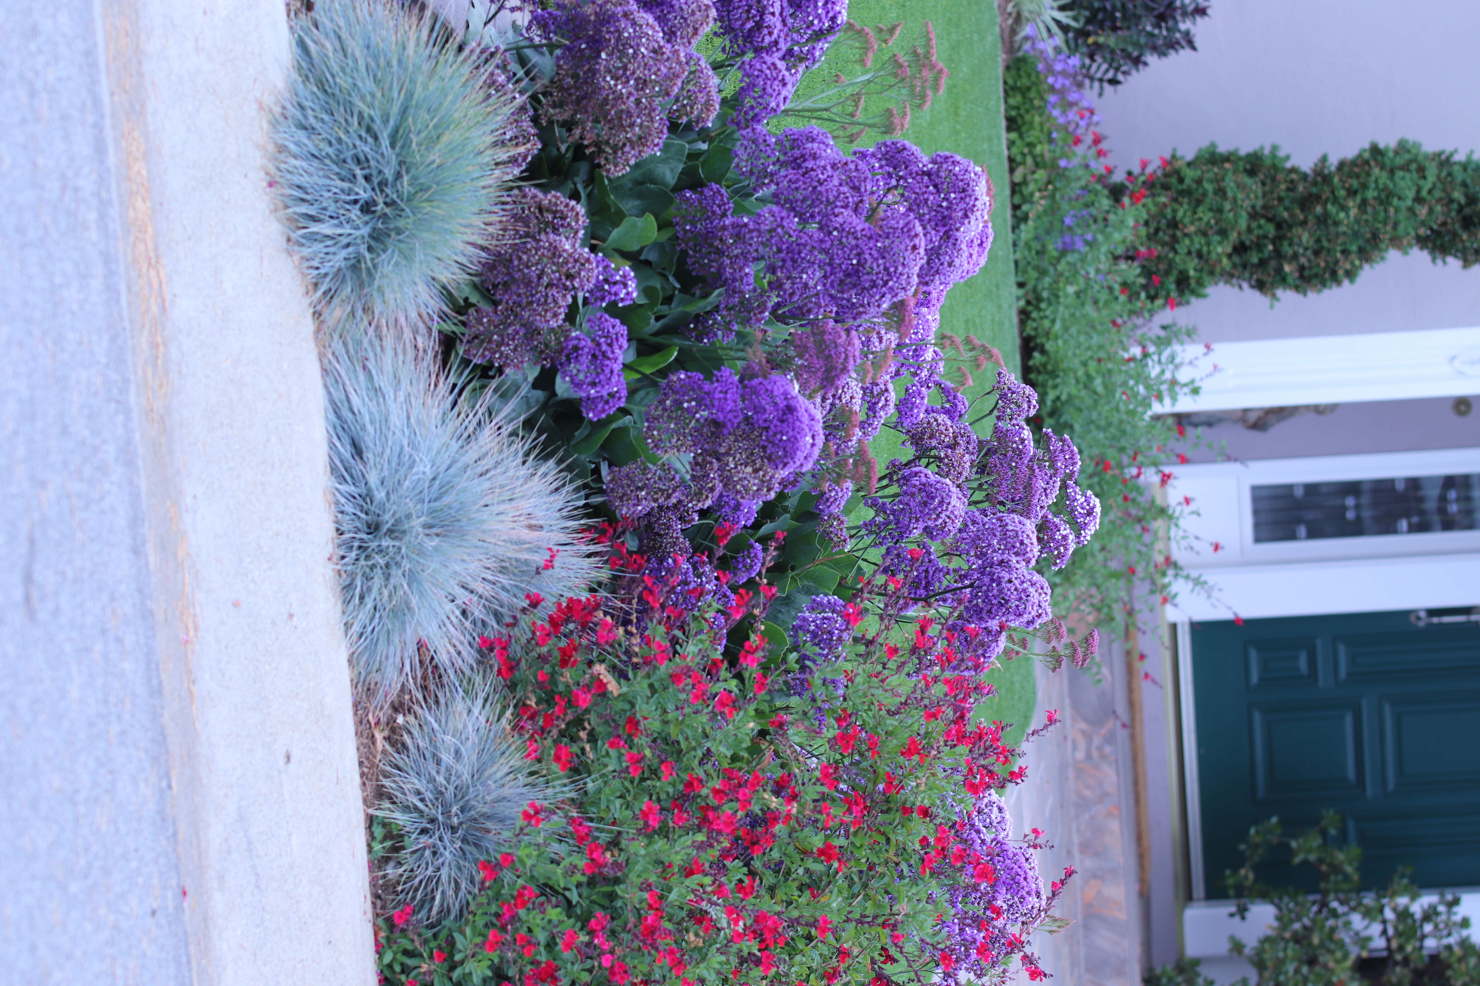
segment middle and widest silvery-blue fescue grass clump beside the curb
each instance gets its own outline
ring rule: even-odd
[[[324,356],[337,565],[351,661],[374,704],[478,661],[478,634],[596,575],[580,494],[494,390],[404,336],[336,333]]]

